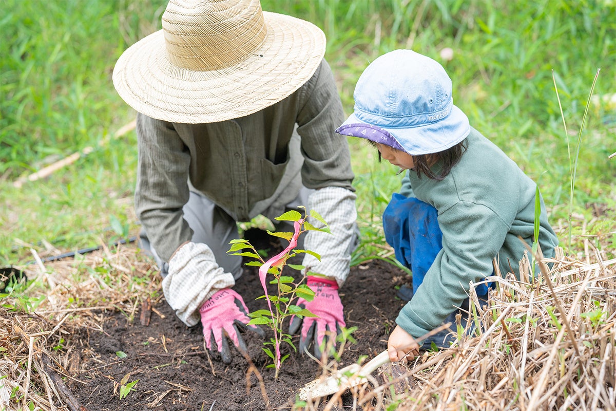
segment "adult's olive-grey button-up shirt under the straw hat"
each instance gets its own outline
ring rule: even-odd
[[[236,221],[290,203],[301,184],[354,191],[346,137],[334,132],[342,120],[325,60],[291,96],[245,117],[183,124],[137,115],[136,210],[153,248],[169,261],[192,238],[182,218],[189,190]],[[286,189],[277,192],[280,185]]]

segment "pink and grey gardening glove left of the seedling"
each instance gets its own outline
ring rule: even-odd
[[[214,339],[218,351],[221,353],[222,362],[225,364],[231,362],[231,352],[224,334],[229,336],[233,344],[243,352],[247,352],[248,349],[240,333],[238,333],[238,326],[254,331],[260,336],[265,336],[261,328],[255,325],[246,325],[250,321],[248,307],[246,307],[241,296],[231,288],[223,288],[214,293],[208,301],[203,303],[199,312],[201,324],[203,324],[205,346],[208,350],[213,349],[212,339]]]

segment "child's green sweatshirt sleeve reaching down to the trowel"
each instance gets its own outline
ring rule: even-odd
[[[468,298],[469,283],[492,275],[509,227],[484,205],[460,201],[439,214],[443,249],[396,322],[414,338],[439,327]]]

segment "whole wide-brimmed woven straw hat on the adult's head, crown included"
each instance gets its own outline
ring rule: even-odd
[[[171,0],[162,22],[120,56],[113,84],[137,112],[174,123],[269,107],[306,83],[325,54],[320,28],[263,12],[258,0]]]

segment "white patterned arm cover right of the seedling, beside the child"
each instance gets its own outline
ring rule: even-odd
[[[320,254],[321,261],[306,254],[302,265],[309,271],[334,277],[342,285],[349,275],[351,253],[357,246],[357,211],[355,193],[342,187],[325,187],[315,190],[308,198],[307,211],[321,214],[331,234],[309,231],[304,239],[304,248]],[[310,224],[320,227],[315,219]]]

